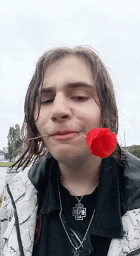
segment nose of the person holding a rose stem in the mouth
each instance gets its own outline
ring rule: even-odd
[[[60,123],[64,122],[66,119],[70,119],[71,110],[69,109],[69,104],[67,99],[58,93],[55,96],[55,100],[53,101],[53,108],[51,112],[52,121],[58,121]]]

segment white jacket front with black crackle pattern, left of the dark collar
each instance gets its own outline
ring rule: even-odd
[[[20,172],[9,183],[9,188],[17,207],[20,236],[25,256],[32,255],[38,210],[37,190],[29,180],[28,171]],[[5,190],[0,209],[1,256],[20,255],[13,213],[10,195]]]

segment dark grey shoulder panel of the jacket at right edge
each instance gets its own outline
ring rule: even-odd
[[[127,165],[124,168],[124,199],[127,211],[140,208],[140,159],[123,152]]]

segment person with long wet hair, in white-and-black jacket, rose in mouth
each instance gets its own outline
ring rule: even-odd
[[[94,128],[118,133],[106,67],[91,47],[48,50],[25,97],[24,170],[4,189],[1,255],[140,255],[140,160],[118,142],[106,158],[90,154],[82,133]]]

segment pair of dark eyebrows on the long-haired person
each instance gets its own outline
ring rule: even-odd
[[[76,88],[76,87],[85,87],[87,89],[95,89],[93,85],[88,84],[87,82],[73,82],[71,84],[67,84],[65,86],[67,89],[72,89],[72,88]],[[54,87],[46,87],[46,88],[41,88],[41,94],[45,94],[45,93],[52,93]]]

